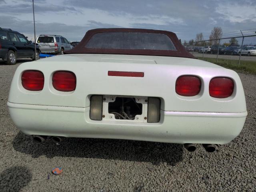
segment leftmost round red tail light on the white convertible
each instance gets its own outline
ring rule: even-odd
[[[36,70],[25,71],[22,73],[21,82],[26,90],[40,91],[44,88],[44,74]]]

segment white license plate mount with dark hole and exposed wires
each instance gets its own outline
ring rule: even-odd
[[[102,120],[147,122],[148,97],[104,95]]]

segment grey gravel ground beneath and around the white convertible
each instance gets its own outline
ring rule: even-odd
[[[216,153],[201,145],[190,153],[180,144],[130,140],[35,144],[14,126],[6,107],[19,64],[0,62],[0,192],[256,191],[255,75],[239,73],[248,110],[242,133]],[[63,173],[48,179],[54,166],[62,166]]]

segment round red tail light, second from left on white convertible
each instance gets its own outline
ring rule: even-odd
[[[74,91],[76,75],[70,71],[57,71],[52,76],[52,86],[58,91]]]

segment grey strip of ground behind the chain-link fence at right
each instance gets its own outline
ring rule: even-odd
[[[191,54],[193,52],[190,52]],[[202,57],[203,54],[202,53],[198,53],[198,52],[194,52],[193,55],[195,57]],[[210,54],[210,53],[207,53],[207,54],[204,54],[204,57],[206,58],[217,58],[217,54]],[[221,58],[221,59],[230,59],[230,60],[239,60],[239,56],[237,55],[218,55],[218,58]],[[241,56],[241,61],[244,60],[244,61],[256,61],[256,56],[245,56],[245,55],[242,55]]]

